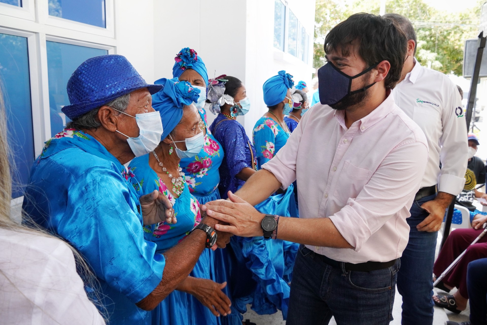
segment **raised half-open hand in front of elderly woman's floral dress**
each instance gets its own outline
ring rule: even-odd
[[[144,225],[153,225],[164,221],[168,224],[177,222],[171,201],[160,191],[154,190],[152,193],[142,195],[139,202]]]

